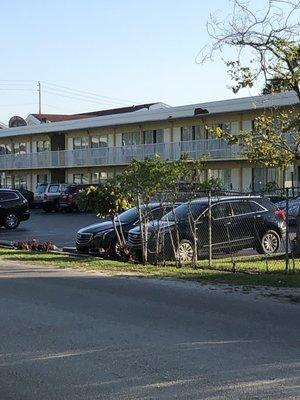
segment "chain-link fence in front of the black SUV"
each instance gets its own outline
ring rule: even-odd
[[[215,191],[164,193],[151,201],[140,196],[140,223],[129,232],[128,247],[140,260],[159,265],[291,272],[298,267],[300,206],[291,195],[276,189],[263,196]],[[160,204],[155,215],[153,202]]]

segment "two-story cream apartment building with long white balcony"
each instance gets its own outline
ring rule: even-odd
[[[203,179],[219,177],[227,189],[259,190],[273,181],[279,186],[291,185],[289,170],[249,164],[238,145],[211,137],[206,126],[219,125],[232,134],[251,130],[253,120],[264,110],[298,107],[293,93],[179,107],[153,104],[120,113],[90,113],[1,129],[1,184],[29,189],[38,182],[97,184],[121,173],[133,159],[157,153],[174,160],[187,152],[191,157],[205,156]],[[294,179],[298,185],[297,168]]]

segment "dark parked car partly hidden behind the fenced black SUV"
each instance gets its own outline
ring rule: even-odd
[[[142,209],[143,212],[147,212],[149,220],[157,220],[169,212],[171,207],[170,204],[150,203],[147,206],[143,205]],[[116,225],[117,227],[121,225],[125,239],[128,231],[138,224],[139,215],[136,207],[124,211],[116,218]],[[106,220],[80,229],[76,237],[76,248],[79,253],[118,256],[118,241],[112,221]]]

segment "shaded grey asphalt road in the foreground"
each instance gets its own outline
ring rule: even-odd
[[[299,399],[299,307],[1,262],[0,398]]]

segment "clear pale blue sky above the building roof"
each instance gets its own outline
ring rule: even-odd
[[[234,97],[221,55],[204,66],[195,62],[217,10],[228,14],[229,1],[2,1],[0,121],[38,111],[37,81],[44,113]]]

